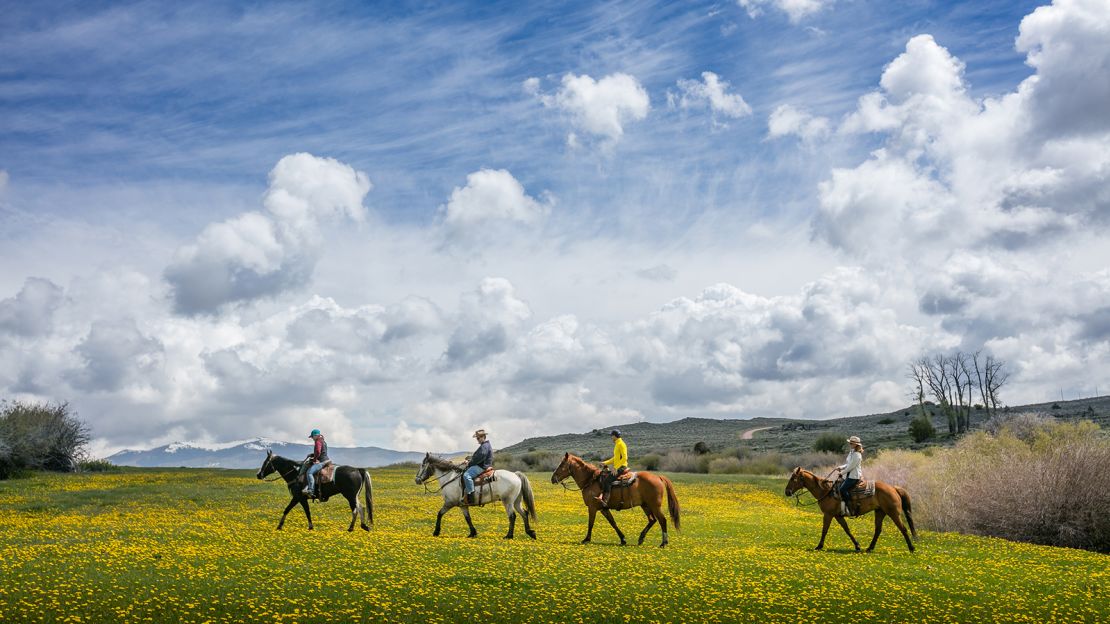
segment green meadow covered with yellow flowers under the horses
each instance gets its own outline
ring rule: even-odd
[[[261,463],[261,456],[260,456]],[[0,482],[0,622],[1106,622],[1110,558],[921,532],[888,521],[857,554],[783,479],[675,474],[682,531],[666,550],[643,514],[598,516],[531,474],[538,541],[500,506],[457,510],[432,536],[437,495],[414,470],[372,470],[374,527],[347,533],[342,497],[300,507],[248,471],[129,470]],[[871,516],[849,521],[866,546]]]

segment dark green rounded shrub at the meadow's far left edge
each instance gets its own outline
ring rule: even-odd
[[[72,472],[89,440],[89,427],[69,403],[6,401],[0,409],[0,479],[21,469]]]

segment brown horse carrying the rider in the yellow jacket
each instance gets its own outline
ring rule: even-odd
[[[663,513],[664,497],[666,497],[667,509],[670,511],[670,522],[675,524],[676,530],[679,529],[678,514],[680,510],[678,509],[678,496],[675,495],[675,486],[670,483],[670,480],[662,474],[638,472],[636,473],[636,483],[633,483],[628,487],[613,489],[613,494],[609,496],[609,506],[604,507],[602,506],[602,502],[597,500],[597,495],[602,493],[602,483],[598,481],[601,474],[602,470],[599,467],[588,464],[582,457],[572,455],[571,453],[563,455],[563,462],[552,473],[552,483],[561,483],[569,476],[574,479],[575,485],[582,491],[582,502],[589,510],[589,526],[586,529],[586,539],[582,543],[589,543],[589,539],[594,534],[594,519],[597,516],[597,512],[602,512],[605,520],[609,521],[609,525],[617,532],[617,536],[620,537],[620,545],[624,546],[628,542],[625,541],[624,533],[617,527],[610,510],[620,511],[639,506],[647,514],[647,526],[639,533],[638,544],[644,543],[644,537],[647,535],[648,530],[658,522],[659,529],[663,530],[663,543],[659,544],[659,547],[666,546],[670,541],[667,539],[667,519],[664,517]]]

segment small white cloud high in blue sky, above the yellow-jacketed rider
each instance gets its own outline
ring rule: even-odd
[[[524,89],[544,107],[566,114],[575,129],[608,144],[620,140],[625,125],[645,119],[652,105],[644,87],[627,73],[612,73],[601,80],[567,73],[562,87],[553,93],[541,92],[538,79],[529,78]],[[577,134],[571,133],[567,140],[576,142]]]

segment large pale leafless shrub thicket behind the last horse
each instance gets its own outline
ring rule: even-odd
[[[885,452],[868,475],[905,485],[927,529],[1110,553],[1110,439],[1088,421],[997,429],[931,456]]]

